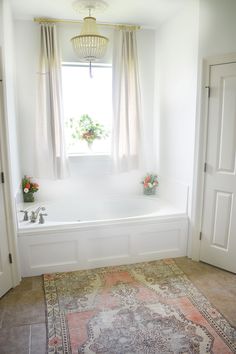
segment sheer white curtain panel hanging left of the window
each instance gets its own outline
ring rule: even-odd
[[[68,176],[64,138],[61,60],[55,24],[41,24],[36,112],[36,176]]]

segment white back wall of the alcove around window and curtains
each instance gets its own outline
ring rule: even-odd
[[[36,107],[36,72],[39,49],[39,25],[30,21],[16,21],[16,54],[17,54],[17,83],[18,106],[20,118],[20,151],[23,174],[34,175],[34,120]],[[59,37],[61,42],[62,60],[65,62],[77,61],[73,52],[70,38],[78,34],[76,25],[60,25]],[[105,57],[111,62],[112,32],[101,31],[110,38],[110,48]],[[108,158],[70,158],[71,178],[65,181],[40,180],[38,198],[54,198],[63,195],[81,196],[86,193],[94,195],[98,192],[135,193],[141,192],[140,178],[146,173],[146,168],[152,164],[152,122],[153,122],[153,96],[154,96],[154,54],[155,32],[142,30],[137,33],[140,80],[143,99],[143,117],[145,120],[145,139],[147,154],[150,163],[143,171],[134,171],[115,176],[111,173],[111,161]],[[151,136],[151,137],[150,137]]]

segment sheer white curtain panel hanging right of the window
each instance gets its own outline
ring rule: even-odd
[[[113,146],[117,172],[138,167],[141,151],[141,99],[136,32],[115,30],[113,50]]]

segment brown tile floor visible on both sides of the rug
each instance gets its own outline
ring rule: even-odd
[[[176,263],[236,327],[236,275],[185,257]],[[0,354],[46,354],[42,277],[24,278],[0,299]]]

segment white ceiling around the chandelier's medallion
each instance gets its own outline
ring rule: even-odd
[[[74,0],[9,0],[16,19],[32,20],[34,17],[52,17],[81,20],[72,8]],[[106,0],[108,9],[96,14],[98,22],[138,24],[157,28],[191,0]]]

